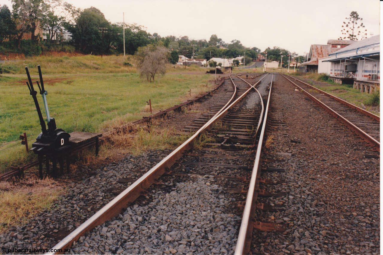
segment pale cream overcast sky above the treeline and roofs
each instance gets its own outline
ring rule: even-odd
[[[65,1],[65,0],[64,0]],[[368,37],[380,34],[378,0],[66,0],[78,8],[98,8],[112,23],[137,23],[165,37],[206,39],[212,34],[226,43],[246,47],[281,47],[303,55],[311,44],[327,44],[341,36],[351,11],[363,18]],[[11,8],[10,0],[0,5]]]

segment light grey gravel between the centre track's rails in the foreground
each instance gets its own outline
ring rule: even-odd
[[[234,252],[237,221],[223,213],[229,200],[209,176],[153,190],[152,202],[128,207],[81,238],[74,253],[226,254]],[[105,245],[104,245],[105,244]]]

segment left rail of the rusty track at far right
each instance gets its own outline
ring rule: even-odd
[[[285,77],[284,75],[282,75],[283,77]],[[324,109],[326,109],[327,111],[329,111],[333,116],[335,116],[336,118],[340,119],[340,121],[344,124],[346,124],[346,126],[350,127],[350,129],[354,132],[356,132],[364,141],[366,141],[368,144],[370,144],[374,149],[376,149],[378,152],[380,152],[380,142],[378,142],[376,139],[374,139],[372,136],[370,136],[369,134],[367,134],[366,132],[364,132],[362,129],[360,129],[359,127],[355,126],[355,124],[353,124],[352,122],[350,122],[348,119],[344,118],[342,115],[340,115],[339,113],[337,113],[336,111],[332,110],[329,106],[327,106],[325,103],[323,103],[322,101],[320,101],[318,98],[316,98],[315,96],[311,95],[309,92],[307,92],[306,90],[304,90],[302,87],[300,87],[299,85],[297,85],[296,83],[294,83],[292,80],[290,80],[289,78],[285,77],[286,80],[290,81],[291,83],[293,83],[296,87],[300,88],[306,95],[308,95],[311,99],[313,99],[315,102],[317,102],[320,106],[322,106]]]

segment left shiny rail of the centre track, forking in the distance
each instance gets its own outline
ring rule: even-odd
[[[218,113],[214,115],[213,118],[211,118],[200,129],[198,129],[198,131],[196,131],[195,134],[193,134],[193,136],[191,136],[187,141],[183,142],[183,144],[181,144],[177,149],[173,150],[173,152],[167,155],[167,157],[162,159],[149,171],[144,173],[142,177],[140,177],[138,180],[132,183],[128,188],[126,188],[114,199],[112,199],[108,204],[106,204],[103,208],[97,211],[87,221],[83,222],[83,224],[77,227],[77,229],[75,229],[70,234],[68,234],[64,239],[62,239],[58,244],[56,244],[51,250],[52,251],[60,250],[60,249],[64,250],[66,248],[70,248],[73,242],[77,241],[80,238],[80,236],[92,230],[94,227],[104,223],[108,219],[111,219],[112,217],[117,216],[123,208],[126,208],[126,206],[128,206],[129,203],[133,202],[138,196],[140,196],[142,191],[146,190],[146,188],[151,186],[152,183],[154,183],[154,180],[159,178],[163,173],[165,173],[165,170],[167,168],[171,167],[176,162],[176,160],[182,157],[183,152],[193,147],[193,142],[195,141],[196,138],[200,136],[200,134],[203,131],[211,128],[211,126],[216,121],[222,119],[228,113],[229,108],[236,105],[238,101],[240,101],[246,95],[246,93],[248,93],[251,90],[251,88],[249,88],[246,92],[244,92],[241,96],[239,96],[236,100],[234,100],[234,96],[236,95],[236,92],[237,92],[236,85],[234,84],[234,82],[233,82],[233,86],[234,86],[234,93],[231,99],[228,101],[228,103],[226,103],[226,105],[220,111],[218,111]],[[232,100],[234,101],[230,103]],[[58,253],[59,252],[48,252],[46,254],[58,254]]]

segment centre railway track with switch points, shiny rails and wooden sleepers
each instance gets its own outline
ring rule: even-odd
[[[265,77],[268,77],[269,80],[271,78],[271,82],[263,83],[262,80]],[[248,251],[250,244],[249,234],[251,234],[253,226],[251,218],[254,217],[255,211],[254,203],[252,202],[257,198],[257,187],[255,184],[257,183],[256,178],[260,173],[258,166],[265,127],[265,124],[263,124],[262,129],[260,128],[263,119],[260,117],[267,117],[267,114],[265,114],[267,107],[264,104],[264,100],[270,97],[269,92],[271,91],[272,75],[266,74],[260,77],[260,80],[254,85],[247,83],[244,79],[239,78],[239,76],[231,77],[231,82],[232,86],[226,87],[227,93],[221,100],[211,106],[210,110],[203,114],[201,118],[196,119],[191,126],[185,127],[185,130],[196,130],[193,136],[164,159],[149,159],[149,161],[159,162],[142,175],[141,178],[126,188],[126,190],[116,196],[115,199],[106,204],[77,229],[62,239],[52,250],[70,248],[74,242],[79,240],[80,237],[87,232],[87,238],[84,239],[84,237],[82,237],[80,241],[85,240],[85,242],[90,242],[88,237],[97,239],[99,235],[96,234],[96,237],[93,236],[97,231],[109,231],[105,230],[105,227],[107,227],[106,221],[121,217],[125,219],[124,217],[126,217],[127,212],[124,211],[124,209],[129,206],[129,204],[132,204],[135,199],[145,192],[153,183],[157,183],[155,186],[169,186],[168,184],[173,183],[175,179],[177,179],[177,183],[183,183],[182,181],[198,177],[208,178],[206,184],[215,183],[214,187],[218,189],[222,187],[225,196],[226,193],[232,194],[231,200],[226,201],[232,208],[238,208],[238,201],[243,200],[245,198],[244,195],[247,193],[248,198],[246,204],[244,204],[244,218],[242,219],[241,230],[239,230],[240,234],[237,247],[241,246],[242,251],[246,251],[246,249]],[[266,95],[263,95],[263,98],[261,93],[255,88],[260,82],[263,83],[263,91],[267,92]],[[259,144],[255,142],[257,137],[260,137]],[[193,147],[197,148],[190,151]],[[251,155],[250,152],[254,151],[255,148],[257,152],[254,158],[254,155]],[[161,179],[159,179],[159,177],[161,177]],[[178,186],[173,185],[172,189],[177,190],[177,187]],[[208,190],[206,185],[205,189]],[[162,191],[159,190],[159,192],[155,194],[157,193],[161,194]],[[203,196],[204,194],[205,193],[200,195]],[[134,206],[137,208],[137,205]],[[241,214],[241,212],[241,210],[237,211],[238,214]],[[183,213],[185,214],[187,212],[184,211]],[[205,212],[202,212],[202,216],[204,215],[206,216]],[[235,218],[232,217],[232,214],[228,215],[231,219]],[[149,220],[151,219],[152,217]],[[226,219],[226,221],[229,220]],[[101,224],[102,226],[100,226]],[[108,224],[110,224],[110,222]],[[236,232],[234,227],[236,222],[232,222],[232,224],[234,230],[230,232],[231,234]],[[129,224],[126,226],[129,226]],[[221,225],[214,226],[210,227],[210,232],[223,231],[222,227],[219,227]],[[200,227],[202,228],[203,226]],[[92,231],[89,232],[90,230]],[[201,232],[201,230],[198,231]],[[120,232],[120,230],[118,230],[118,232]],[[244,235],[243,232],[245,232]],[[115,231],[113,230],[112,233],[115,234]],[[208,237],[208,234],[209,233],[206,232],[205,235],[201,235],[205,238]],[[118,237],[116,238],[118,239]],[[169,240],[172,238],[173,237],[169,237]],[[218,240],[219,236],[215,238]],[[213,240],[212,237],[207,239]],[[231,239],[236,240],[235,237],[231,237]],[[185,240],[186,241],[181,242],[187,242],[189,239]],[[81,242],[76,245],[81,245]],[[221,247],[223,250],[220,252],[225,252],[225,249],[229,248],[228,245],[225,247]],[[76,250],[76,252],[79,252],[79,250]],[[106,251],[101,248],[98,252]],[[164,250],[157,252],[164,252]],[[167,251],[165,251],[165,253],[166,252]],[[210,250],[206,250],[206,252],[210,252]]]

